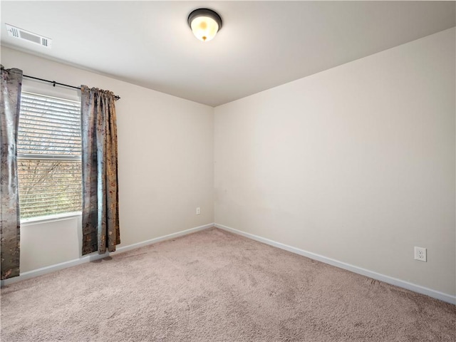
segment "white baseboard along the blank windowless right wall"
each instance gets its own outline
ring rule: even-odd
[[[273,247],[285,249],[288,252],[299,254],[304,257],[308,257],[309,259],[321,261],[321,262],[324,262],[325,264],[330,264],[332,266],[336,266],[341,269],[346,269],[348,271],[352,271],[353,273],[356,273],[356,274],[361,274],[362,276],[367,276],[368,278],[376,279],[376,280],[383,281],[383,282],[391,284],[391,285],[402,287],[403,289],[408,289],[410,291],[418,292],[419,294],[425,294],[426,296],[430,296],[435,299],[440,299],[440,301],[446,301],[447,303],[450,303],[450,304],[456,304],[456,296],[452,296],[450,294],[444,294],[440,291],[435,291],[432,289],[428,289],[427,287],[409,283],[408,281],[396,279],[391,276],[385,276],[384,274],[380,274],[380,273],[377,273],[374,271],[369,271],[368,269],[363,269],[361,267],[353,266],[351,264],[346,264],[345,262],[342,262],[342,261],[323,257],[323,255],[320,255],[320,254],[307,252],[307,251],[304,251],[303,249],[291,247],[286,244],[281,244],[280,242],[275,242],[270,239],[265,239],[264,237],[259,237],[254,234],[242,232],[240,230],[224,226],[223,224],[216,223],[216,224],[214,224],[214,226],[219,229],[224,229],[227,232],[232,232],[234,234],[242,235],[243,237],[248,237],[249,239],[254,239],[259,242],[263,242],[264,244],[269,244],[270,246],[273,246]]]

